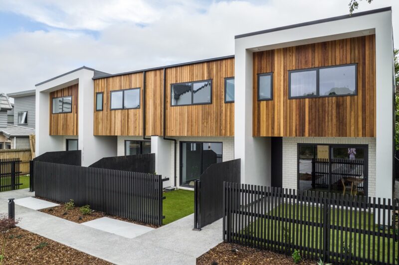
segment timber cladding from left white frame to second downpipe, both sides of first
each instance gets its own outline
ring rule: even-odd
[[[146,72],[146,135],[162,135],[163,70]],[[143,73],[94,80],[94,135],[143,135]],[[140,88],[140,108],[111,110],[111,91]],[[96,92],[103,110],[96,111]]]

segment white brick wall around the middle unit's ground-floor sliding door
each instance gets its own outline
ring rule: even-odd
[[[223,151],[223,162],[233,160],[234,159],[234,137],[175,137],[174,139],[177,141],[177,183],[180,185],[180,141],[190,141],[190,142],[222,142],[222,151]],[[175,147],[174,142],[171,141],[171,176],[175,176]],[[174,183],[174,180],[171,179],[171,183]]]

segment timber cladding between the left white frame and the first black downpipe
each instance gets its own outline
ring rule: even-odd
[[[111,110],[113,90],[140,88],[140,108]],[[95,110],[96,92],[104,92],[103,110]],[[143,73],[94,80],[94,135],[142,135]]]

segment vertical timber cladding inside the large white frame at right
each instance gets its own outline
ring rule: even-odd
[[[253,53],[253,136],[376,136],[375,35]],[[358,64],[353,96],[288,99],[288,71]],[[257,74],[273,72],[273,99],[257,101]]]

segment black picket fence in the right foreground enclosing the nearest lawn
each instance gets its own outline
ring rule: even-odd
[[[333,264],[399,260],[399,200],[225,182],[223,240]]]

